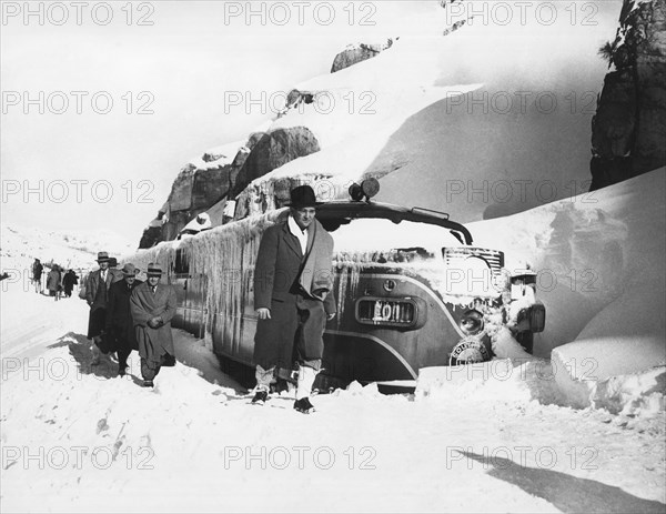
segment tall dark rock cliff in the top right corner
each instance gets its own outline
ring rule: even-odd
[[[625,0],[592,120],[596,190],[666,164],[666,1]]]

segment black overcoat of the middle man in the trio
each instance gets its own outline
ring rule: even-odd
[[[134,334],[134,323],[130,306],[132,291],[143,282],[134,280],[130,285],[124,280],[114,282],[109,288],[109,301],[107,303],[107,324],[104,331],[111,336],[110,351],[139,350]]]

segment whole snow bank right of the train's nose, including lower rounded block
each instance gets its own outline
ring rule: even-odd
[[[664,172],[470,226],[477,244],[506,251],[507,266],[536,270],[547,315],[535,353],[554,349],[566,404],[664,409]]]

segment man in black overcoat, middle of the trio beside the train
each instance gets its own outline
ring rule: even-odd
[[[132,291],[143,282],[137,280],[139,270],[134,268],[134,264],[127,263],[120,271],[123,280],[114,282],[109,288],[104,332],[109,339],[109,351],[118,352],[118,374],[123,376],[130,353],[132,350],[139,350],[132,323],[130,298]]]

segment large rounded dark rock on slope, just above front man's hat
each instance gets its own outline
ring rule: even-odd
[[[250,182],[275,168],[319,151],[319,141],[306,127],[290,127],[268,132],[254,144],[248,155],[231,194],[233,196],[240,194]]]

